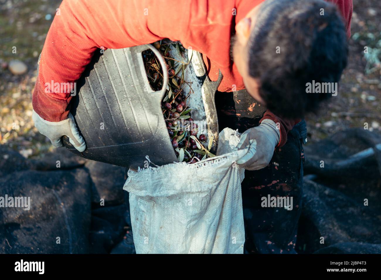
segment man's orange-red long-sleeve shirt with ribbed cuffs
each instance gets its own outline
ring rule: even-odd
[[[230,38],[234,25],[263,1],[63,0],[41,53],[33,108],[45,120],[64,120],[69,114],[70,93],[46,93],[45,83],[78,80],[97,48],[127,48],[163,38],[179,40],[208,58],[211,80],[216,80],[220,69],[224,78],[219,91],[231,91],[233,85],[243,89],[242,77],[230,58]],[[338,5],[349,30],[352,0],[328,2]],[[281,123],[282,146],[295,120],[281,120],[271,112],[264,118]]]

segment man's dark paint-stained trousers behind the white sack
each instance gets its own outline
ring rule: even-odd
[[[240,133],[259,125],[266,108],[246,91],[216,93],[220,131],[225,127]],[[276,148],[271,162],[261,170],[245,171],[242,182],[246,253],[296,253],[298,220],[303,189],[303,144],[307,130],[304,120],[287,135],[283,147]],[[262,207],[261,198],[292,197],[292,210]]]

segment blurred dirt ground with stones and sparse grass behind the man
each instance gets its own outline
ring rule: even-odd
[[[0,0],[0,144],[25,157],[53,148],[34,128],[31,99],[37,59],[60,2]],[[338,95],[323,104],[319,114],[306,116],[309,143],[364,123],[381,131],[381,2],[354,0],[351,30],[349,64]],[[368,47],[367,58],[364,47]],[[28,66],[26,74],[11,74],[6,64],[13,59]]]

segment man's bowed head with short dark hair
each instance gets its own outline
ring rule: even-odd
[[[347,64],[346,30],[334,5],[266,0],[235,29],[233,59],[247,91],[274,114],[303,117],[335,95],[332,88],[307,90],[337,83]]]

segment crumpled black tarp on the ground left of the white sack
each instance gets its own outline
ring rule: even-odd
[[[66,149],[38,160],[1,151],[0,196],[29,196],[31,207],[0,208],[0,253],[110,253],[124,234],[132,234],[125,168],[86,161]]]

